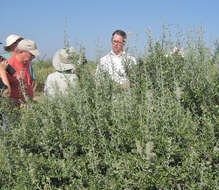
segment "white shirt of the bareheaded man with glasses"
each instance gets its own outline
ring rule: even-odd
[[[97,66],[96,78],[100,79],[102,73],[107,72],[111,79],[120,85],[128,83],[126,69],[136,65],[136,59],[123,51],[121,55],[116,55],[111,51],[100,59]]]

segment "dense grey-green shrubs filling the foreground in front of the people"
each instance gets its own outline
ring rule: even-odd
[[[0,131],[1,189],[218,189],[216,53],[200,36],[182,41],[149,36],[128,68],[133,88],[96,85],[88,62],[68,97],[13,112],[2,101],[14,119]],[[165,56],[174,46],[184,57]],[[53,71],[44,63],[34,65],[37,95]]]

